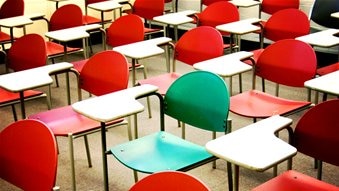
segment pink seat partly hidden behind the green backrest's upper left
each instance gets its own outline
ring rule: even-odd
[[[151,85],[157,86],[159,88],[158,92],[161,95],[165,95],[166,92],[167,92],[167,89],[179,77],[180,77],[180,74],[178,74],[178,73],[166,73],[166,74],[162,74],[162,75],[159,75],[159,76],[139,80],[138,83],[140,85],[151,84]]]

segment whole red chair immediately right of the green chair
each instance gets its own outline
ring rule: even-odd
[[[255,78],[258,76],[277,85],[303,88],[305,81],[315,77],[316,67],[315,52],[304,42],[285,39],[269,45],[254,65],[252,90],[232,96],[230,111],[256,121],[257,118],[286,116],[309,108],[310,101],[278,97],[278,87],[275,96],[255,90]]]

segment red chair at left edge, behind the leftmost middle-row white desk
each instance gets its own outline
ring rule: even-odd
[[[3,52],[4,53],[4,52]],[[4,53],[6,54],[6,53]],[[18,72],[46,65],[46,47],[45,40],[38,34],[27,34],[18,38],[6,55],[6,70]],[[37,90],[24,91],[25,101],[46,98],[46,94]],[[18,93],[9,92],[0,88],[0,107],[11,105],[14,120],[17,120],[17,114],[14,104],[20,102]],[[51,105],[47,99],[47,107]]]

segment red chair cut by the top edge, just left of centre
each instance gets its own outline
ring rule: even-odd
[[[135,14],[145,20],[145,35],[151,35],[154,33],[164,32],[161,28],[152,28],[153,17],[163,15],[165,12],[164,0],[135,0],[134,4],[128,3],[131,8],[124,10],[125,13]]]

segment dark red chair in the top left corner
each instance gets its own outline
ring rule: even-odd
[[[0,7],[0,19],[24,15],[25,4],[23,0],[6,0]],[[5,50],[5,44],[11,43],[11,36],[0,31],[0,44]]]

